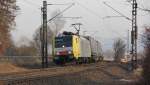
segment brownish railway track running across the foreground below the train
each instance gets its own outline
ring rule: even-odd
[[[0,75],[0,85],[48,85],[43,83],[48,83],[49,77],[54,77],[58,75],[78,73],[87,70],[93,70],[95,68],[104,68],[104,65],[97,63],[92,64],[82,64],[73,66],[63,66],[63,67],[52,67],[47,69],[35,69],[25,72],[17,72],[11,74],[1,74]],[[37,82],[39,84],[37,84]]]

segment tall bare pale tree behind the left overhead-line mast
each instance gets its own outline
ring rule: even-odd
[[[51,16],[54,17],[58,13],[60,13],[60,10],[54,11]],[[57,16],[54,20],[52,20],[51,23],[48,23],[48,45],[52,44],[53,37],[57,35],[57,33],[64,27],[64,25],[65,25],[65,20],[63,18],[63,14]],[[41,50],[40,30],[41,27],[39,27],[36,30],[35,34],[33,35],[34,42],[39,53]]]

